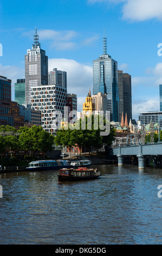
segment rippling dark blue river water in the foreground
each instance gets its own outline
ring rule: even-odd
[[[57,171],[1,174],[1,245],[161,244],[162,169],[98,168],[98,180],[64,183]]]

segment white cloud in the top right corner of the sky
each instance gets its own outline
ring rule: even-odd
[[[123,18],[131,21],[145,21],[150,19],[162,20],[161,0],[88,0],[88,3],[120,4]]]

